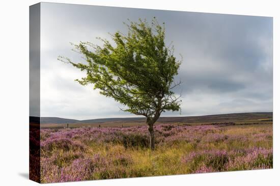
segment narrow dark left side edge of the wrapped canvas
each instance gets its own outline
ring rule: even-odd
[[[29,178],[40,182],[40,4],[29,9]]]

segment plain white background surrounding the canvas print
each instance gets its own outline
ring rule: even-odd
[[[277,185],[279,157],[279,51],[280,16],[277,1],[151,1],[151,0],[73,0],[49,1],[100,6],[180,10],[191,12],[273,16],[273,141],[274,168],[176,176],[61,183],[60,185]],[[0,184],[36,185],[29,172],[29,6],[38,1],[2,1],[0,11]],[[277,104],[278,103],[278,104]],[[48,184],[55,185],[55,184]]]

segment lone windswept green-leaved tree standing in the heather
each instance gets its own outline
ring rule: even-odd
[[[149,126],[150,148],[155,148],[154,123],[166,110],[179,111],[179,98],[172,91],[180,85],[175,83],[181,61],[173,56],[174,48],[164,43],[165,29],[154,18],[151,24],[146,20],[129,21],[128,32],[117,31],[111,35],[115,45],[97,38],[103,46],[89,42],[72,44],[86,60],[74,63],[67,57],[59,60],[70,63],[87,76],[75,80],[81,85],[93,84],[100,94],[113,97],[135,115],[146,117]]]

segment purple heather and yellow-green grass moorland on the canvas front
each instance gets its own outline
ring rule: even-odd
[[[41,181],[272,168],[272,124],[41,129]]]

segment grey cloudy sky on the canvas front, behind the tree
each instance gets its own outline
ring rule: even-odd
[[[126,32],[129,18],[165,22],[166,45],[183,62],[179,70],[182,112],[162,116],[272,111],[272,18],[98,6],[41,5],[41,117],[95,119],[135,117],[119,103],[81,86],[85,76],[59,55],[83,61],[69,42],[110,40]]]

